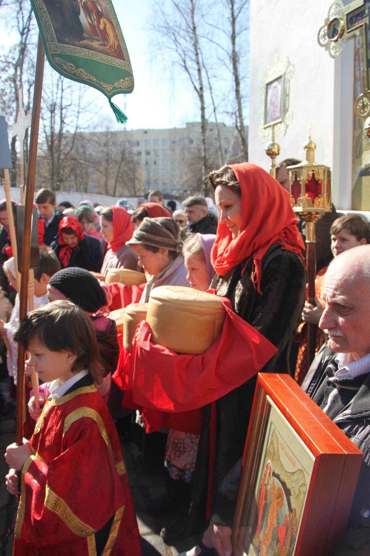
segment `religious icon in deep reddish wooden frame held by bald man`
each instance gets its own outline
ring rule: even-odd
[[[245,445],[233,556],[332,554],[362,453],[288,375],[260,373]]]

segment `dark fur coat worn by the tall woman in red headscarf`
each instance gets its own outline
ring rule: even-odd
[[[262,259],[260,295],[252,284],[252,261],[246,261],[226,276],[215,276],[212,287],[228,297],[237,315],[255,327],[278,348],[261,369],[264,373],[288,373],[292,338],[301,320],[306,293],[306,271],[300,256],[272,245]],[[243,349],[243,346],[240,346]],[[232,354],[230,354],[232,371]],[[226,474],[241,458],[247,436],[257,377],[216,401],[216,462],[213,485],[212,520],[232,525],[235,502],[219,495]],[[187,533],[206,527],[206,498],[209,474],[209,438],[211,406],[203,409],[203,420],[194,479]]]

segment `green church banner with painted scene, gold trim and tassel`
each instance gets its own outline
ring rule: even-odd
[[[60,75],[108,97],[117,120],[127,118],[111,98],[130,93],[129,53],[110,0],[31,0],[45,54]]]

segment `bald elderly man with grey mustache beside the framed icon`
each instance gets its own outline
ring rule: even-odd
[[[334,259],[325,275],[328,334],[303,390],[363,453],[344,545],[335,556],[370,554],[370,245]]]

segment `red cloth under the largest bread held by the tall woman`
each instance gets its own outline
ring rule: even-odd
[[[209,292],[215,294],[214,290]],[[176,354],[153,344],[149,324],[140,323],[131,356],[121,352],[113,375],[116,384],[125,390],[125,407],[191,414],[244,384],[275,355],[277,348],[232,311],[230,300],[220,300],[226,309],[224,326],[202,355]],[[134,405],[127,405],[130,402]],[[152,431],[155,418],[149,412],[145,415]]]

